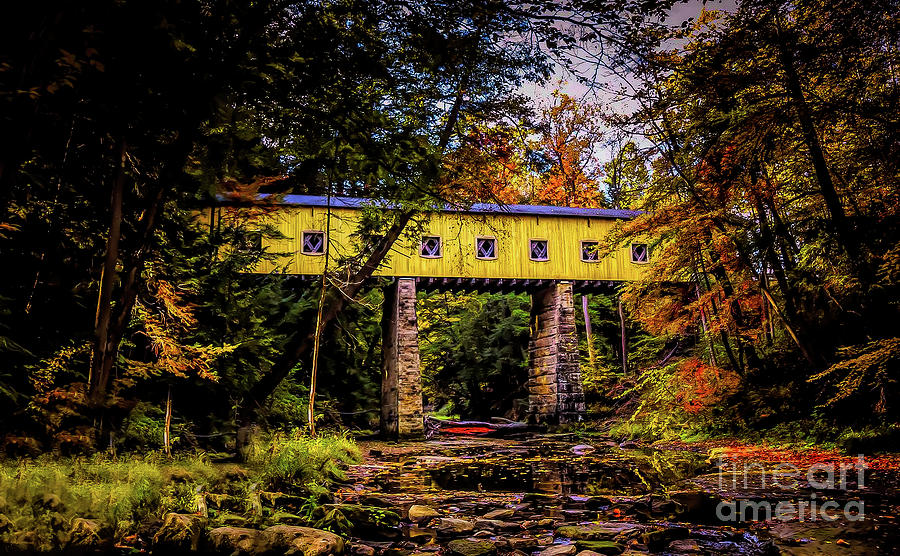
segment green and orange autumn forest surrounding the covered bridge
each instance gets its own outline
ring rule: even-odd
[[[752,0],[673,25],[673,4],[17,6],[0,23],[7,451],[158,446],[167,399],[185,445],[305,426],[317,322],[316,413],[371,428],[372,274],[429,209],[476,201],[641,211],[607,247],[653,238],[646,279],[579,311],[593,422],[900,438],[900,5]],[[535,84],[557,90],[536,102]],[[392,209],[318,285],[245,272],[278,259],[253,234],[298,193]],[[242,210],[198,216],[223,200]],[[527,298],[419,310],[433,409],[522,417]]]

